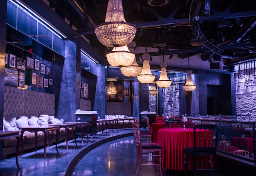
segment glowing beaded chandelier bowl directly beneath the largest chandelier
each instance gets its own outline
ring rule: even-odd
[[[135,58],[135,54],[129,51],[127,45],[115,47],[112,52],[106,54],[111,66],[129,66]]]

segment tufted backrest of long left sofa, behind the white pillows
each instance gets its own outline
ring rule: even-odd
[[[43,92],[4,86],[4,118],[55,114],[55,96]]]

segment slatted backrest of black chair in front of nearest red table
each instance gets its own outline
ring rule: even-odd
[[[194,150],[207,149],[216,153],[217,141],[217,125],[200,124],[194,126]]]

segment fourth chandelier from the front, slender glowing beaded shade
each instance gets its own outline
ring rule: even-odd
[[[150,65],[148,59],[150,58],[150,55],[148,53],[144,53],[142,55],[143,59],[143,65],[142,65],[142,71],[137,76],[137,79],[141,83],[152,83],[155,80],[155,75],[151,73]]]

